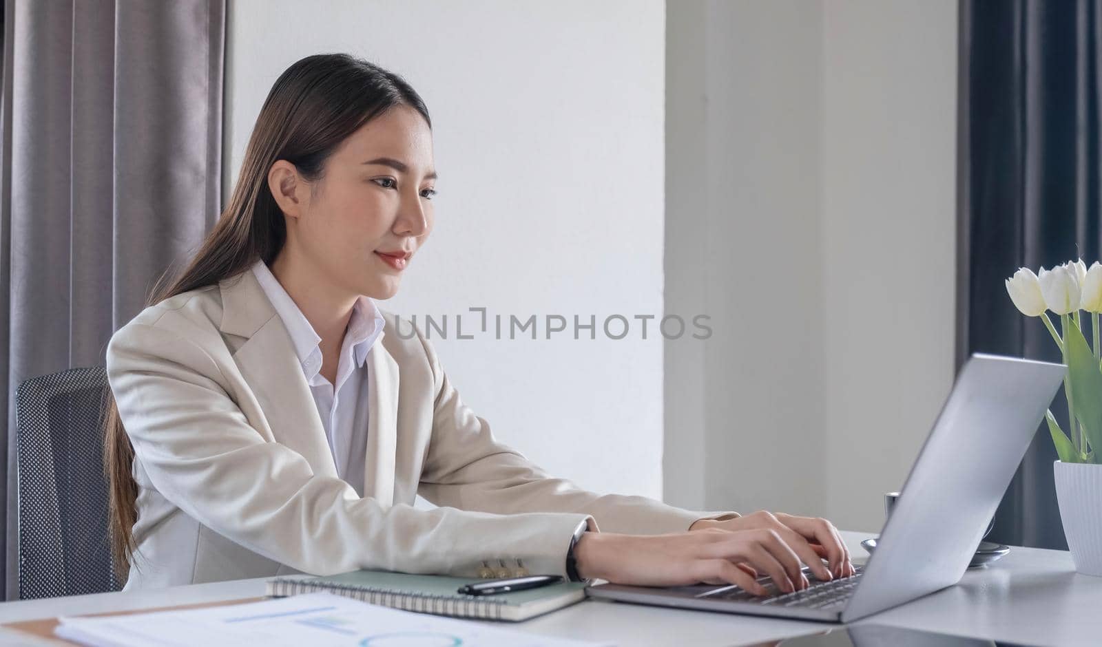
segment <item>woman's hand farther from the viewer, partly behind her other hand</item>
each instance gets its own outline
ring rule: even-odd
[[[820,517],[798,517],[785,513],[758,511],[734,519],[698,519],[689,527],[690,530],[702,530],[704,528],[719,528],[721,530],[769,528],[776,530],[781,539],[798,556],[803,558],[804,563],[815,572],[815,577],[823,579],[822,573],[818,572],[819,569],[817,569],[822,562],[815,559],[813,561],[818,563],[810,563],[807,556],[817,555],[819,558],[827,558],[829,560],[830,573],[835,578],[847,578],[856,572],[853,563],[850,561],[850,549],[842,541],[842,536],[839,534],[838,528],[827,519]]]

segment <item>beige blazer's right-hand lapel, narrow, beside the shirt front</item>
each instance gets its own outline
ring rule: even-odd
[[[383,330],[367,353],[367,456],[364,496],[383,507],[395,500],[395,446],[398,437],[398,362],[382,346]]]

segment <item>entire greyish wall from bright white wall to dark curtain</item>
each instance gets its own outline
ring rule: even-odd
[[[953,377],[957,3],[668,21],[667,306],[726,333],[667,362],[667,496],[876,530]]]

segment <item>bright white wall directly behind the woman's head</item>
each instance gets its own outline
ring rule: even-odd
[[[434,346],[500,440],[584,487],[656,497],[660,337],[457,340],[454,318],[661,316],[663,30],[658,1],[233,0],[226,90],[228,186],[294,61],[343,51],[404,76],[433,118],[440,193],[381,307],[449,315]]]

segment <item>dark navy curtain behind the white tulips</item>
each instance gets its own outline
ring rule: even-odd
[[[1102,10],[1087,0],[962,0],[960,19],[958,368],[971,352],[1059,362],[1041,321],[1017,311],[1003,279],[1019,266],[1102,260]],[[1051,408],[1068,429],[1062,390]],[[1041,429],[990,540],[1067,549],[1055,460]]]

